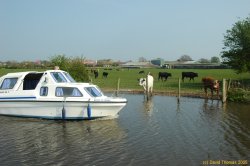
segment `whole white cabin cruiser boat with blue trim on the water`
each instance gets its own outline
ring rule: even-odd
[[[9,73],[0,78],[0,114],[46,119],[114,117],[127,99],[107,97],[65,71]]]

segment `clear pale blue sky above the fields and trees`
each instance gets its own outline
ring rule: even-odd
[[[0,0],[0,61],[220,57],[249,0]]]

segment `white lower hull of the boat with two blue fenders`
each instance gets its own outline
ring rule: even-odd
[[[96,119],[117,117],[126,102],[4,101],[0,115],[44,119]]]

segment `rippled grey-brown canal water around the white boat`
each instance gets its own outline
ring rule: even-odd
[[[115,119],[0,116],[0,165],[249,164],[250,105],[122,96],[128,104]]]

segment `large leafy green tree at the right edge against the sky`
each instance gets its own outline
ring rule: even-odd
[[[224,36],[223,63],[237,73],[250,72],[250,17],[236,22]]]

